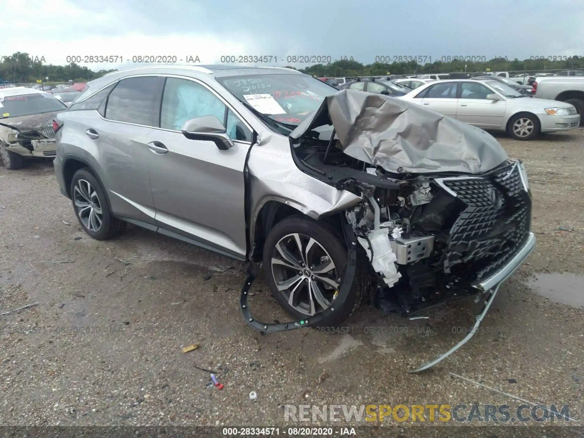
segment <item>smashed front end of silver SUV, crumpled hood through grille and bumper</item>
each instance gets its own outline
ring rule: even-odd
[[[386,313],[492,290],[534,247],[523,164],[478,128],[347,90],[290,138],[305,173],[361,197],[346,220]]]

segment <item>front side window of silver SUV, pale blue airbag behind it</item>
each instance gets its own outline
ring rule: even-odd
[[[232,140],[252,140],[249,128],[208,88],[188,79],[166,79],[160,127],[180,131],[187,120],[203,116],[217,117]]]

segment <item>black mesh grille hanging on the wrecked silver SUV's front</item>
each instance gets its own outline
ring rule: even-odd
[[[443,183],[464,203],[450,229],[444,270],[472,265],[477,279],[482,279],[504,265],[529,234],[531,199],[519,168],[509,165],[485,178]]]

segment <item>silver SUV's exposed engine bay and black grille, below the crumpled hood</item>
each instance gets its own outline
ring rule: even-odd
[[[484,291],[481,280],[528,237],[520,161],[472,176],[399,175],[328,143],[304,140],[292,153],[307,173],[362,197],[345,217],[370,260],[372,303],[386,313]]]

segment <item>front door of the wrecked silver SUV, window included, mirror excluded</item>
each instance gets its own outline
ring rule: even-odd
[[[215,116],[234,141],[219,150],[213,141],[189,140],[185,121]],[[244,166],[252,130],[206,85],[166,78],[161,129],[151,129],[148,165],[159,232],[245,259]]]

